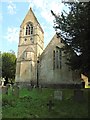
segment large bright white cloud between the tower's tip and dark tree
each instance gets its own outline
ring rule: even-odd
[[[53,16],[51,15],[51,10],[55,13],[60,13],[64,7],[64,4],[61,3],[62,0],[27,0],[29,3],[29,8],[39,9],[41,12],[39,13],[47,22],[53,21]]]

